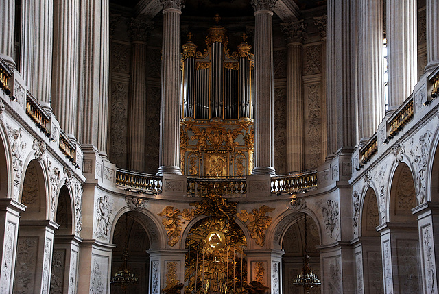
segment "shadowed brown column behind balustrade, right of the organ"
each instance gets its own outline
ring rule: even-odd
[[[304,165],[304,121],[302,45],[307,36],[303,21],[281,24],[288,48],[287,60],[287,167],[302,171]]]

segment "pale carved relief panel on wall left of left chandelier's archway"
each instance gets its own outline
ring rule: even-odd
[[[112,199],[108,195],[99,196],[96,204],[95,238],[108,241],[114,212],[115,208],[113,207]]]

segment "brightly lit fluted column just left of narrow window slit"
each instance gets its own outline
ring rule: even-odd
[[[383,0],[362,0],[359,47],[359,138],[377,132],[384,117]]]

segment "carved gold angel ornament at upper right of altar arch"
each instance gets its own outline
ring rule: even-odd
[[[241,210],[241,213],[237,213],[237,217],[246,223],[252,239],[261,247],[265,243],[265,230],[268,229],[273,220],[266,214],[273,210],[274,208],[263,205],[259,210],[254,208],[250,213],[245,209]]]

